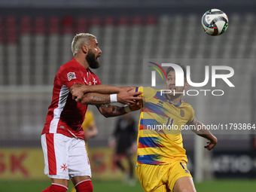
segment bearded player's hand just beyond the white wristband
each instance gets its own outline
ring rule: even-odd
[[[133,90],[133,87],[127,87],[123,89],[120,93],[117,94],[117,102],[123,104],[133,104],[136,103],[136,100],[142,100],[143,97],[136,97],[142,94],[142,92],[132,93],[130,90]]]

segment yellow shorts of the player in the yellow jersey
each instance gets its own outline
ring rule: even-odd
[[[146,192],[172,191],[178,178],[192,178],[184,160],[162,165],[136,163],[136,173]]]

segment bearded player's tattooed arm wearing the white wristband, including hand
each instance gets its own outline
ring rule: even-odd
[[[74,84],[72,87],[69,88],[71,93],[74,93],[73,90],[77,87],[82,87],[84,85],[81,84]],[[90,87],[90,86],[89,86]],[[134,92],[135,87],[126,87],[117,93],[116,100],[111,101],[111,96],[109,94],[102,94],[102,93],[85,93],[79,99],[79,102],[84,105],[102,105],[102,104],[109,104],[111,102],[120,102],[123,104],[130,104],[135,103],[135,100],[142,100],[143,97],[136,97],[142,92]],[[72,94],[72,96],[74,96]],[[77,99],[76,99],[77,100]]]

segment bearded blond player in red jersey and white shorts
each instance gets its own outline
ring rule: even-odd
[[[102,51],[94,35],[81,33],[75,35],[72,41],[72,53],[74,59],[60,66],[56,73],[52,102],[41,134],[44,173],[52,181],[44,192],[65,192],[68,190],[69,178],[72,178],[78,192],[93,191],[82,126],[87,105],[97,105],[105,117],[114,117],[138,110],[140,107],[134,99],[142,99],[135,97],[140,93],[130,93],[130,88],[120,91],[111,86],[102,86],[104,95],[86,93],[76,102],[74,96],[72,98],[72,90],[75,87],[101,84],[89,68],[99,68],[99,56]],[[111,102],[133,105],[117,107],[110,105]]]

